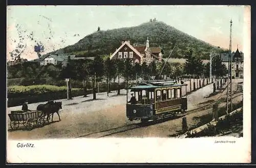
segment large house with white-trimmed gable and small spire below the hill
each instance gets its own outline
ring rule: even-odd
[[[111,54],[110,59],[127,59],[130,58],[134,63],[148,65],[152,61],[162,61],[163,53],[160,47],[150,47],[147,38],[146,45],[131,45],[129,40],[122,41],[121,46]]]

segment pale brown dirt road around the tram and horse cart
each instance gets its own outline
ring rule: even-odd
[[[212,85],[206,86],[202,89],[187,96],[188,110],[198,107],[202,102],[210,102],[215,100],[220,94],[206,98],[212,92]],[[122,90],[121,94],[125,91]],[[8,130],[8,138],[10,139],[43,139],[43,138],[71,138],[85,134],[90,134],[97,131],[108,130],[116,127],[122,127],[136,122],[130,122],[126,118],[125,102],[126,96],[106,97],[106,94],[99,94],[98,100],[91,101],[92,95],[89,97],[76,97],[73,100],[58,100],[62,101],[62,109],[60,112],[60,122],[53,122],[41,128],[33,130]],[[241,99],[238,98],[238,99]],[[35,109],[40,103],[29,104],[30,109]],[[8,113],[11,110],[20,109],[20,106],[8,108]],[[187,115],[187,122],[189,126],[193,126],[195,116],[200,116],[209,113],[209,110],[197,111],[196,113]],[[169,134],[176,133],[181,130],[181,118],[168,120],[163,123],[158,123],[150,126],[140,127],[136,129],[127,130],[113,134],[115,137],[166,137]],[[10,120],[8,118],[8,129],[10,129]],[[58,121],[55,114],[54,121]],[[108,137],[111,137],[108,136]],[[92,136],[94,137],[94,136]]]

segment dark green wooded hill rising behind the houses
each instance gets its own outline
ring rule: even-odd
[[[177,43],[172,58],[184,58],[189,49],[201,59],[209,59],[210,49],[215,52],[223,52],[220,47],[213,46],[161,21],[150,21],[138,26],[123,27],[107,31],[97,31],[73,45],[61,48],[61,52],[76,54],[77,57],[94,57],[95,55],[110,55],[121,45],[122,40],[130,40],[131,43],[145,44],[146,38],[150,40],[150,46],[160,46],[164,57]],[[58,51],[58,50],[57,50]],[[56,51],[54,51],[56,52]],[[51,54],[54,52],[50,52]],[[60,50],[59,50],[60,52]]]

